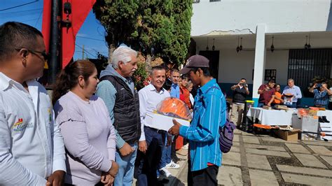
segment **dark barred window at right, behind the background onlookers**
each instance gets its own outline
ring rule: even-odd
[[[288,78],[292,78],[307,96],[313,78],[331,78],[331,62],[331,48],[289,50]]]

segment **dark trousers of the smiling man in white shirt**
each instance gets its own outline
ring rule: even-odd
[[[164,147],[165,131],[144,127],[144,133],[148,150],[145,155],[140,151],[137,154],[138,165],[135,167],[135,178],[139,186],[158,185],[157,166]]]

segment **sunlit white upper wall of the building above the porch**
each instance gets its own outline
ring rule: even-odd
[[[201,0],[193,3],[191,36],[255,33],[259,23],[266,33],[326,31],[330,6],[331,0]]]

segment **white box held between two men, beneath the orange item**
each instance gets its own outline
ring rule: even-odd
[[[153,128],[168,131],[173,127],[173,119],[177,120],[180,124],[188,126],[191,124],[190,120],[182,120],[176,117],[161,115],[159,113],[146,113],[146,120],[151,120]]]

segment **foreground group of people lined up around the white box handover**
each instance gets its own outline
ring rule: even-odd
[[[162,185],[158,177],[179,168],[183,148],[188,185],[217,185],[226,99],[207,58],[190,57],[170,80],[165,67],[154,66],[151,83],[137,91],[137,52],[120,46],[100,77],[92,62],[70,62],[50,98],[36,81],[49,58],[41,32],[6,22],[0,46],[0,185],[132,185],[134,178]],[[165,131],[147,117],[170,96],[191,110],[190,126],[173,120]]]

